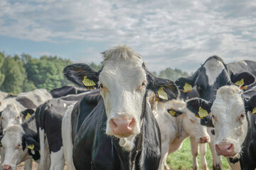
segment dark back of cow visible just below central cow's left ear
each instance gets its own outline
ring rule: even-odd
[[[56,88],[50,91],[51,96],[53,98],[60,98],[63,96],[67,96],[69,94],[81,94],[84,92],[87,92],[89,90],[87,89],[82,89],[76,86],[62,86],[60,88]]]

